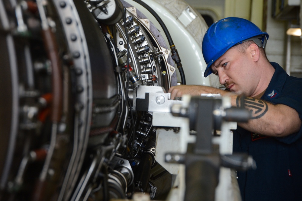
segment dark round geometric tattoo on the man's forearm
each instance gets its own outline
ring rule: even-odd
[[[267,103],[265,101],[262,101],[259,99],[255,99],[252,97],[244,97],[243,99],[240,100],[240,96],[238,96],[236,99],[237,107],[240,107],[239,101],[240,101],[240,104],[242,104],[242,101],[244,101],[244,107],[246,109],[248,109],[252,114],[251,119],[259,119],[268,110]]]

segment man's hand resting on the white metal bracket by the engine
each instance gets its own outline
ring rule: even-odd
[[[174,100],[175,97],[182,97],[184,94],[189,94],[191,96],[200,96],[200,94],[224,95],[227,93],[227,91],[201,85],[177,85],[171,87],[168,93],[171,93],[171,100]]]

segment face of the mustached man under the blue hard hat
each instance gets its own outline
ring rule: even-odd
[[[253,96],[259,83],[248,50],[243,54],[230,48],[211,65],[211,69],[219,76],[220,84],[236,94]]]

